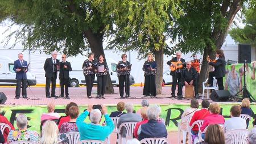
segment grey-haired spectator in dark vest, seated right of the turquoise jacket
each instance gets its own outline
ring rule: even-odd
[[[158,106],[152,106],[147,109],[148,122],[139,127],[139,141],[144,138],[167,138],[166,126],[158,121],[159,110]]]

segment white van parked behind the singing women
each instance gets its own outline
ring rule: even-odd
[[[118,86],[118,77],[117,77],[117,62],[111,58],[108,58],[107,61],[109,67],[109,74],[112,81],[112,84]],[[81,65],[82,67],[82,65]],[[78,87],[79,85],[85,85],[84,71],[83,70],[72,70],[69,71],[69,86]],[[97,84],[97,77],[95,77],[94,84]],[[130,85],[134,84],[134,78],[130,74]]]

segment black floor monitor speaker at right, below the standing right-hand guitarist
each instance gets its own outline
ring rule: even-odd
[[[213,101],[227,101],[230,97],[230,93],[228,90],[213,90],[212,94],[210,94],[210,99]]]

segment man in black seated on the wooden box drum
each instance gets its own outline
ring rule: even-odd
[[[183,70],[183,73],[181,75],[182,80],[179,82],[179,89],[180,93],[182,94],[182,87],[183,86],[188,86],[188,85],[193,85],[195,88],[195,98],[199,98],[198,95],[198,88],[197,88],[197,71],[191,66],[191,61],[186,62],[186,68]]]

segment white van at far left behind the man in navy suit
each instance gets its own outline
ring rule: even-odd
[[[0,85],[1,86],[16,86],[16,73],[13,70],[14,61],[9,57],[0,57]],[[36,85],[35,74],[27,72],[28,86]]]

